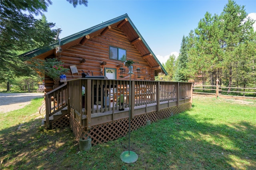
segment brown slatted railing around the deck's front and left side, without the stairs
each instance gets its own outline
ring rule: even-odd
[[[113,114],[134,107],[155,104],[159,109],[161,102],[176,102],[190,99],[192,102],[192,83],[109,80],[94,78],[78,78],[67,82],[70,107],[74,117],[82,127],[90,129],[92,115]],[[82,96],[82,88],[85,94]],[[86,121],[84,121],[86,119]],[[114,119],[114,118],[113,118]]]

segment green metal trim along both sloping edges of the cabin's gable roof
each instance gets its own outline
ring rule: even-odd
[[[157,61],[157,63],[161,66],[162,70],[164,71],[164,73],[167,75],[166,70],[164,69],[164,67],[162,66],[162,64],[158,61],[158,59],[156,58],[156,56],[154,55],[154,53],[152,52],[152,50],[150,49],[150,47],[148,46],[148,44],[146,43],[146,41],[144,40],[144,38],[141,36],[140,32],[138,31],[138,29],[135,27],[135,25],[132,23],[132,21],[130,20],[128,14],[124,14],[122,16],[116,17],[112,20],[100,23],[98,25],[95,25],[94,27],[90,27],[88,29],[85,29],[83,31],[80,31],[78,33],[74,33],[68,37],[64,37],[62,39],[60,39],[60,45],[65,45],[67,43],[70,43],[78,38],[84,37],[90,33],[93,33],[95,31],[98,31],[99,29],[105,28],[108,25],[111,25],[113,23],[116,23],[118,21],[122,21],[125,18],[128,19],[128,21],[130,22],[130,24],[132,25],[133,29],[136,31],[136,33],[139,35],[139,37],[141,38],[142,42],[146,45],[146,47],[148,48],[148,50],[150,51],[150,53],[153,55],[154,59]],[[24,56],[24,57],[36,57],[38,55],[41,55],[43,53],[46,53],[47,51],[50,51],[52,49],[55,49],[56,47],[58,47],[59,42],[53,43],[47,47],[43,47],[43,48],[38,48],[38,49],[34,49],[32,51],[28,51],[27,53],[24,53],[20,56]]]

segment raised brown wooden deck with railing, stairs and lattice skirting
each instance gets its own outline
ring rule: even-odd
[[[91,138],[95,145],[126,135],[129,113],[134,130],[146,125],[146,121],[154,122],[189,109],[192,83],[133,80],[129,87],[128,80],[79,78],[47,93],[45,99],[46,128],[66,125],[68,118],[76,139]],[[50,121],[48,117],[64,107],[67,111],[63,120]]]

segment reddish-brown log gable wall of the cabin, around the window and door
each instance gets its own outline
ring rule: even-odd
[[[67,80],[72,80],[74,78],[82,77],[82,70],[84,72],[89,72],[92,76],[104,76],[104,68],[115,68],[117,79],[129,79],[128,68],[126,68],[126,74],[124,77],[120,77],[119,66],[122,64],[121,61],[109,59],[109,46],[118,47],[126,50],[126,60],[133,60],[139,64],[133,65],[134,75],[132,75],[132,80],[154,80],[155,70],[151,69],[151,66],[145,59],[142,59],[142,55],[136,49],[134,45],[131,45],[131,42],[128,40],[123,31],[117,27],[110,29],[104,35],[97,35],[91,37],[86,41],[84,45],[76,44],[72,47],[63,49],[60,55],[60,60],[64,62],[65,68],[70,68],[70,65],[76,65],[79,75],[76,73],[72,75],[71,71],[66,73]],[[53,58],[54,56],[50,56]],[[82,59],[85,59],[85,63],[80,63]],[[100,63],[106,62],[106,65],[103,65],[103,72],[101,72]],[[143,68],[140,72],[140,78],[137,78],[136,68]],[[147,70],[147,74],[146,74]],[[48,80],[45,82],[47,87],[46,91],[49,92],[50,87],[53,82]]]

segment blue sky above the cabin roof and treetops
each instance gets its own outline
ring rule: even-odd
[[[61,28],[60,38],[128,14],[161,63],[178,55],[182,37],[198,26],[206,12],[220,14],[228,0],[88,0],[88,7],[73,7],[66,0],[52,0],[47,21]],[[256,20],[256,0],[237,0]]]

